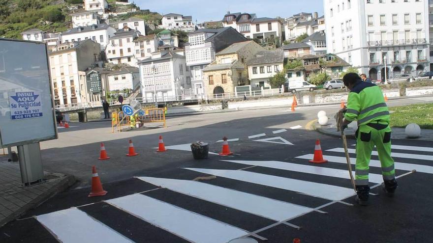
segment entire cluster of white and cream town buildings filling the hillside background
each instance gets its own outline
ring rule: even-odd
[[[21,35],[47,43],[56,105],[98,102],[107,92],[122,90],[150,102],[186,95],[207,99],[242,87],[273,88],[269,79],[282,71],[286,82],[309,81],[317,73],[339,79],[354,67],[384,81],[433,69],[432,1],[323,4],[320,17],[318,12],[287,18],[227,12],[222,21],[196,25],[192,16],[169,13],[151,28],[133,16],[108,18],[106,0],[84,0],[83,8],[69,8],[68,30],[32,28]],[[293,60],[302,67],[284,69]]]

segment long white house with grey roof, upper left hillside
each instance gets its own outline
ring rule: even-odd
[[[92,25],[86,27],[71,28],[61,33],[62,43],[91,39],[101,45],[101,51],[105,50],[108,39],[114,35],[116,29],[107,24]]]

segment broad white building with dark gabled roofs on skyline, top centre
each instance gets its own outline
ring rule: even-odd
[[[232,27],[247,39],[262,41],[282,40],[282,22],[275,18],[257,18],[256,14],[227,12],[222,20],[224,27]]]

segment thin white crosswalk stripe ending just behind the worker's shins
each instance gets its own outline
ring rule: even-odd
[[[302,173],[308,173],[314,175],[350,179],[347,170],[342,170],[342,169],[333,169],[327,167],[318,167],[318,166],[311,166],[311,165],[304,165],[304,164],[297,164],[297,163],[290,163],[290,162],[280,162],[280,161],[230,161],[230,160],[229,161],[224,160],[224,161],[247,164],[247,165],[262,166],[262,167],[268,167],[274,169],[296,171],[296,172],[302,172]],[[355,172],[353,172],[353,176],[355,176]],[[372,183],[383,182],[382,175],[378,175],[378,174],[370,174],[369,180]]]

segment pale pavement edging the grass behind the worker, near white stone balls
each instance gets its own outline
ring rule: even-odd
[[[337,121],[332,117],[329,118],[328,124],[321,126],[315,121],[313,123],[315,130],[324,135],[341,137],[341,133],[337,132]],[[344,134],[348,138],[355,138],[356,122],[349,124],[349,127],[344,130]],[[391,139],[411,139],[411,140],[427,140],[433,141],[433,130],[421,129],[421,136],[418,138],[407,138],[404,133],[404,128],[392,128]]]

